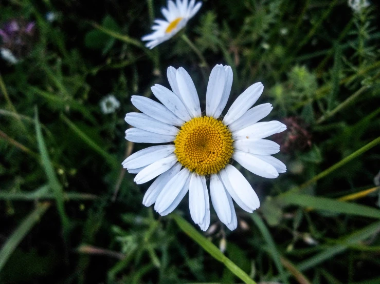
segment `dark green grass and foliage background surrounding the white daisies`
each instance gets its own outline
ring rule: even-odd
[[[1,2],[0,28],[23,29],[2,42],[17,62],[0,61],[0,282],[380,283],[374,3],[205,1],[148,50],[140,38],[165,1]],[[169,66],[190,73],[204,104],[215,64],[234,73],[228,104],[263,83],[267,119],[288,126],[271,137],[287,172],[241,168],[260,209],[236,207],[232,232],[211,212],[203,233],[187,197],[166,217],[141,204],[149,185],[121,162],[144,146],[124,139],[124,115],[132,95],[169,86]],[[120,106],[104,113],[108,94]]]

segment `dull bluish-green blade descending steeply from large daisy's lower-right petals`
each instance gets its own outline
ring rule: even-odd
[[[261,235],[263,236],[263,238],[265,239],[266,244],[268,245],[269,254],[272,256],[273,261],[275,262],[275,265],[277,267],[278,272],[280,273],[280,277],[281,277],[282,281],[284,283],[288,283],[287,277],[285,275],[284,269],[283,269],[282,264],[281,264],[280,253],[278,252],[278,250],[276,248],[275,241],[273,240],[272,236],[270,235],[268,228],[266,228],[263,220],[261,219],[259,214],[257,214],[256,212],[252,213],[251,217],[254,220],[256,226],[259,228],[259,231],[260,231]]]

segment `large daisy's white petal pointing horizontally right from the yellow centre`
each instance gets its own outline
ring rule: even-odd
[[[233,147],[243,152],[258,155],[273,155],[280,152],[280,145],[266,139],[242,139],[234,141]]]

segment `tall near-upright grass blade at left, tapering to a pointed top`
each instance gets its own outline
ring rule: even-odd
[[[49,187],[51,188],[51,190],[53,191],[56,197],[58,212],[61,217],[64,233],[67,233],[69,221],[68,221],[67,215],[65,213],[65,208],[64,208],[64,193],[63,193],[62,186],[59,183],[56,173],[53,169],[53,166],[51,165],[49,154],[47,152],[47,148],[45,145],[45,140],[42,135],[40,121],[38,119],[37,108],[35,109],[34,120],[35,120],[35,132],[37,135],[38,148],[41,154],[42,165],[44,167],[44,170],[48,179]]]

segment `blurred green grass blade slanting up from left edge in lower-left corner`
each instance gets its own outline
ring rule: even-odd
[[[49,206],[49,202],[38,204],[37,207],[21,222],[19,227],[17,227],[17,229],[7,239],[2,247],[2,250],[0,251],[0,272],[2,271],[8,258],[12,255],[13,251],[17,248],[33,226],[41,219],[42,215],[44,215]]]

